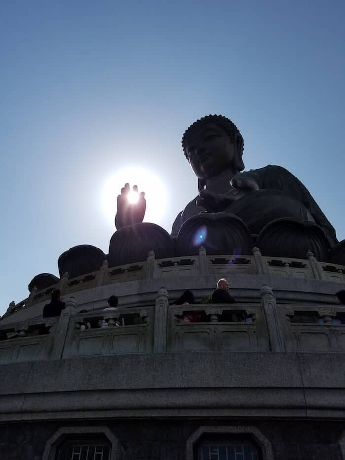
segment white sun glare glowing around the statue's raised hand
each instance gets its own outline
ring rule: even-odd
[[[162,181],[155,171],[146,167],[128,166],[120,168],[110,175],[102,190],[102,207],[105,217],[112,222],[116,214],[116,199],[121,188],[128,182],[131,187],[129,202],[138,201],[138,193],[145,192],[146,213],[144,222],[160,224],[166,208],[166,192]],[[132,191],[133,185],[138,186],[138,193]]]

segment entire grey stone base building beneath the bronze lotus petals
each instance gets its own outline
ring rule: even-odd
[[[223,276],[236,303],[201,303]],[[0,459],[345,459],[344,282],[311,253],[201,248],[32,287],[0,321]]]

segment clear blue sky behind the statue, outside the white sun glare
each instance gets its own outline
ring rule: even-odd
[[[107,253],[119,168],[165,182],[170,231],[197,193],[181,136],[209,113],[242,132],[246,169],[290,170],[345,238],[344,22],[344,1],[1,1],[0,314],[63,251]]]

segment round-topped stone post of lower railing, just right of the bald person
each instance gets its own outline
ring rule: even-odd
[[[261,305],[265,312],[271,350],[273,352],[285,352],[283,332],[276,307],[276,298],[273,295],[271,287],[263,285],[260,289],[260,295]]]

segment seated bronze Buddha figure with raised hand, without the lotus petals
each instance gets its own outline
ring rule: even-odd
[[[199,194],[177,215],[171,235],[177,237],[184,222],[202,212],[236,215],[253,235],[276,219],[289,218],[319,225],[330,247],[335,230],[307,188],[289,171],[268,165],[242,172],[244,140],[232,121],[209,115],[193,123],[182,138],[184,154],[198,178]],[[123,205],[126,184],[118,197],[117,228],[142,221],[146,203]]]

